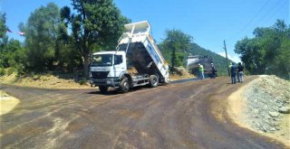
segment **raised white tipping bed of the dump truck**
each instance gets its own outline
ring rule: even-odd
[[[150,23],[129,23],[125,25],[117,49],[125,51],[129,68],[139,73],[158,74],[160,82],[169,82],[169,66],[150,35]]]

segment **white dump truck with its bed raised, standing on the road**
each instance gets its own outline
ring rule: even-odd
[[[115,51],[92,54],[90,83],[102,93],[116,88],[121,93],[137,86],[169,83],[169,66],[150,35],[150,23],[125,24]]]

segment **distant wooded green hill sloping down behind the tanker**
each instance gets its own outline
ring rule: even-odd
[[[202,47],[200,47],[197,43],[192,43],[190,50],[190,54],[192,55],[207,55],[208,57],[211,57],[214,61],[217,69],[218,69],[218,75],[227,75],[227,62],[226,58],[218,55],[217,53],[213,51],[208,51]],[[228,61],[230,62],[230,61]]]

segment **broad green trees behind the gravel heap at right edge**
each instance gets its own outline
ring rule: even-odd
[[[236,43],[236,52],[251,74],[275,74],[289,78],[290,27],[277,20],[271,27],[256,28],[255,37]]]

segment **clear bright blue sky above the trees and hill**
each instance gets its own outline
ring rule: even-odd
[[[29,15],[41,5],[53,2],[59,7],[71,5],[70,0],[0,0],[0,11],[6,14],[6,24],[18,31],[19,23],[26,23]],[[253,37],[256,27],[272,26],[277,19],[290,24],[289,0],[114,0],[121,14],[132,22],[148,20],[152,36],[157,42],[165,38],[165,31],[179,29],[193,37],[201,47],[240,61],[234,52],[237,41]],[[10,38],[24,41],[17,33]]]

